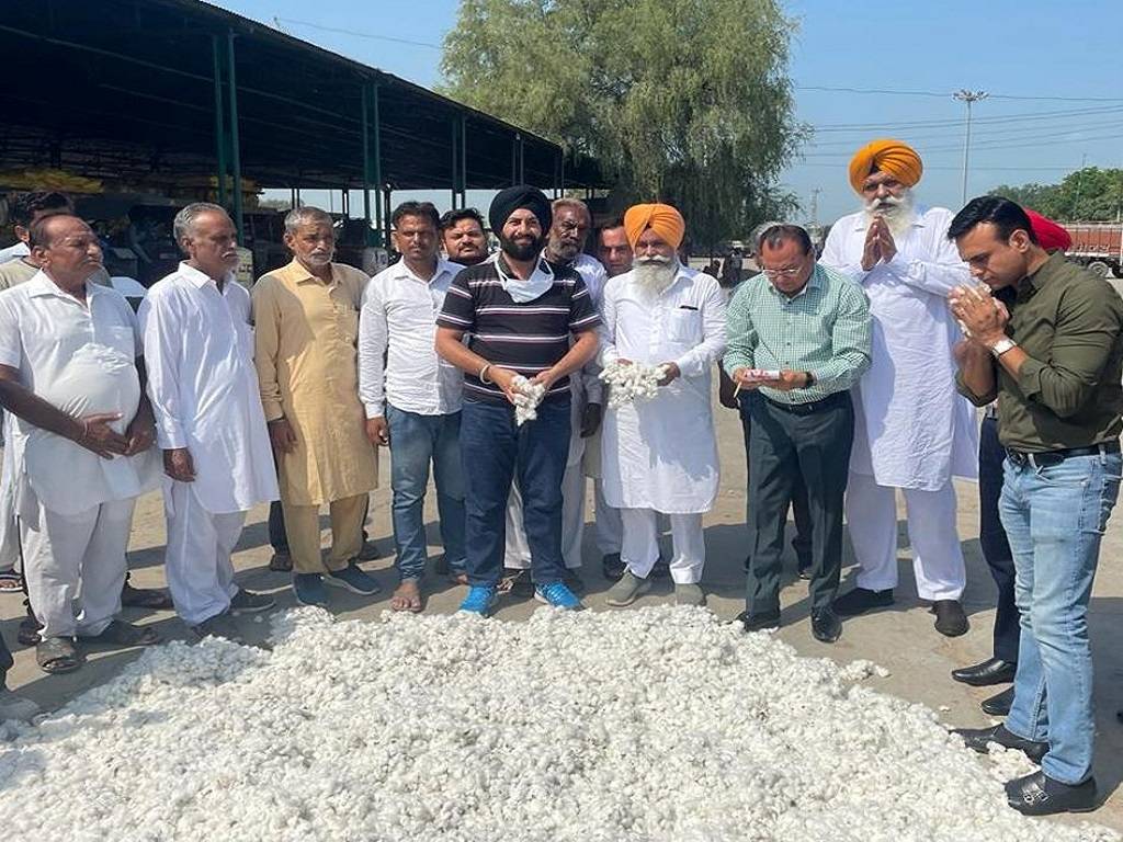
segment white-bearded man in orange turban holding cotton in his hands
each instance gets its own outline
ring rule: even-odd
[[[725,349],[725,302],[718,281],[678,262],[686,223],[669,204],[624,214],[632,271],[604,287],[601,364],[664,365],[658,393],[610,409],[601,467],[604,497],[620,510],[627,570],[609,605],[630,605],[650,587],[659,559],[656,513],[670,520],[675,602],[701,605],[702,515],[718,494],[718,442],[710,372]]]

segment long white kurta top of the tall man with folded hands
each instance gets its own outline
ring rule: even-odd
[[[855,277],[869,296],[873,360],[855,388],[850,470],[878,485],[940,491],[952,476],[978,476],[975,412],[956,391],[951,348],[961,331],[948,309],[952,287],[971,283],[948,239],[952,213],[917,208],[894,239],[897,254],[861,268],[865,213],[838,220],[822,263]]]

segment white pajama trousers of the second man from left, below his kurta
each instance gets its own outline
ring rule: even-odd
[[[199,625],[225,613],[238,593],[230,553],[241,534],[246,513],[208,512],[191,486],[191,483],[165,482],[165,566],[175,612],[188,625]]]

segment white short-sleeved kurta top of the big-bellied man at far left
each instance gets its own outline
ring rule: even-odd
[[[45,273],[0,293],[0,365],[20,383],[71,415],[117,412],[125,432],[140,403],[136,315],[118,292],[85,285],[85,302],[63,292]],[[20,514],[36,502],[61,514],[128,500],[154,487],[155,450],[102,459],[97,454],[17,418],[12,430]]]

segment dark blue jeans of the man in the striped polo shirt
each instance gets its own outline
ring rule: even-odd
[[[467,488],[468,582],[497,585],[503,571],[506,501],[519,478],[530,573],[538,585],[565,576],[562,559],[562,476],[569,452],[569,400],[551,399],[538,418],[514,423],[510,404],[465,401],[460,455]]]

